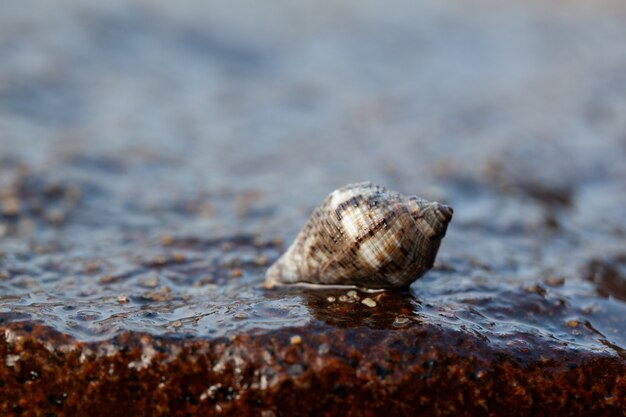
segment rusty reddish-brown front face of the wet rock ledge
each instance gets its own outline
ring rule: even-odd
[[[40,325],[5,322],[2,328],[2,415],[626,411],[624,359],[563,349],[502,350],[428,325],[402,332],[310,326],[215,340],[126,333],[97,343]],[[294,333],[306,337],[294,343]]]

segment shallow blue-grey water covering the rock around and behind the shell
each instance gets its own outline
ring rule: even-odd
[[[5,320],[80,340],[429,324],[626,355],[619,3],[62,4],[0,15]],[[360,180],[454,207],[435,269],[346,302],[262,289]]]

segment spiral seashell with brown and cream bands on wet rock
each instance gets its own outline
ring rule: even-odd
[[[339,188],[270,266],[264,285],[407,287],[433,266],[452,212],[371,182]]]

